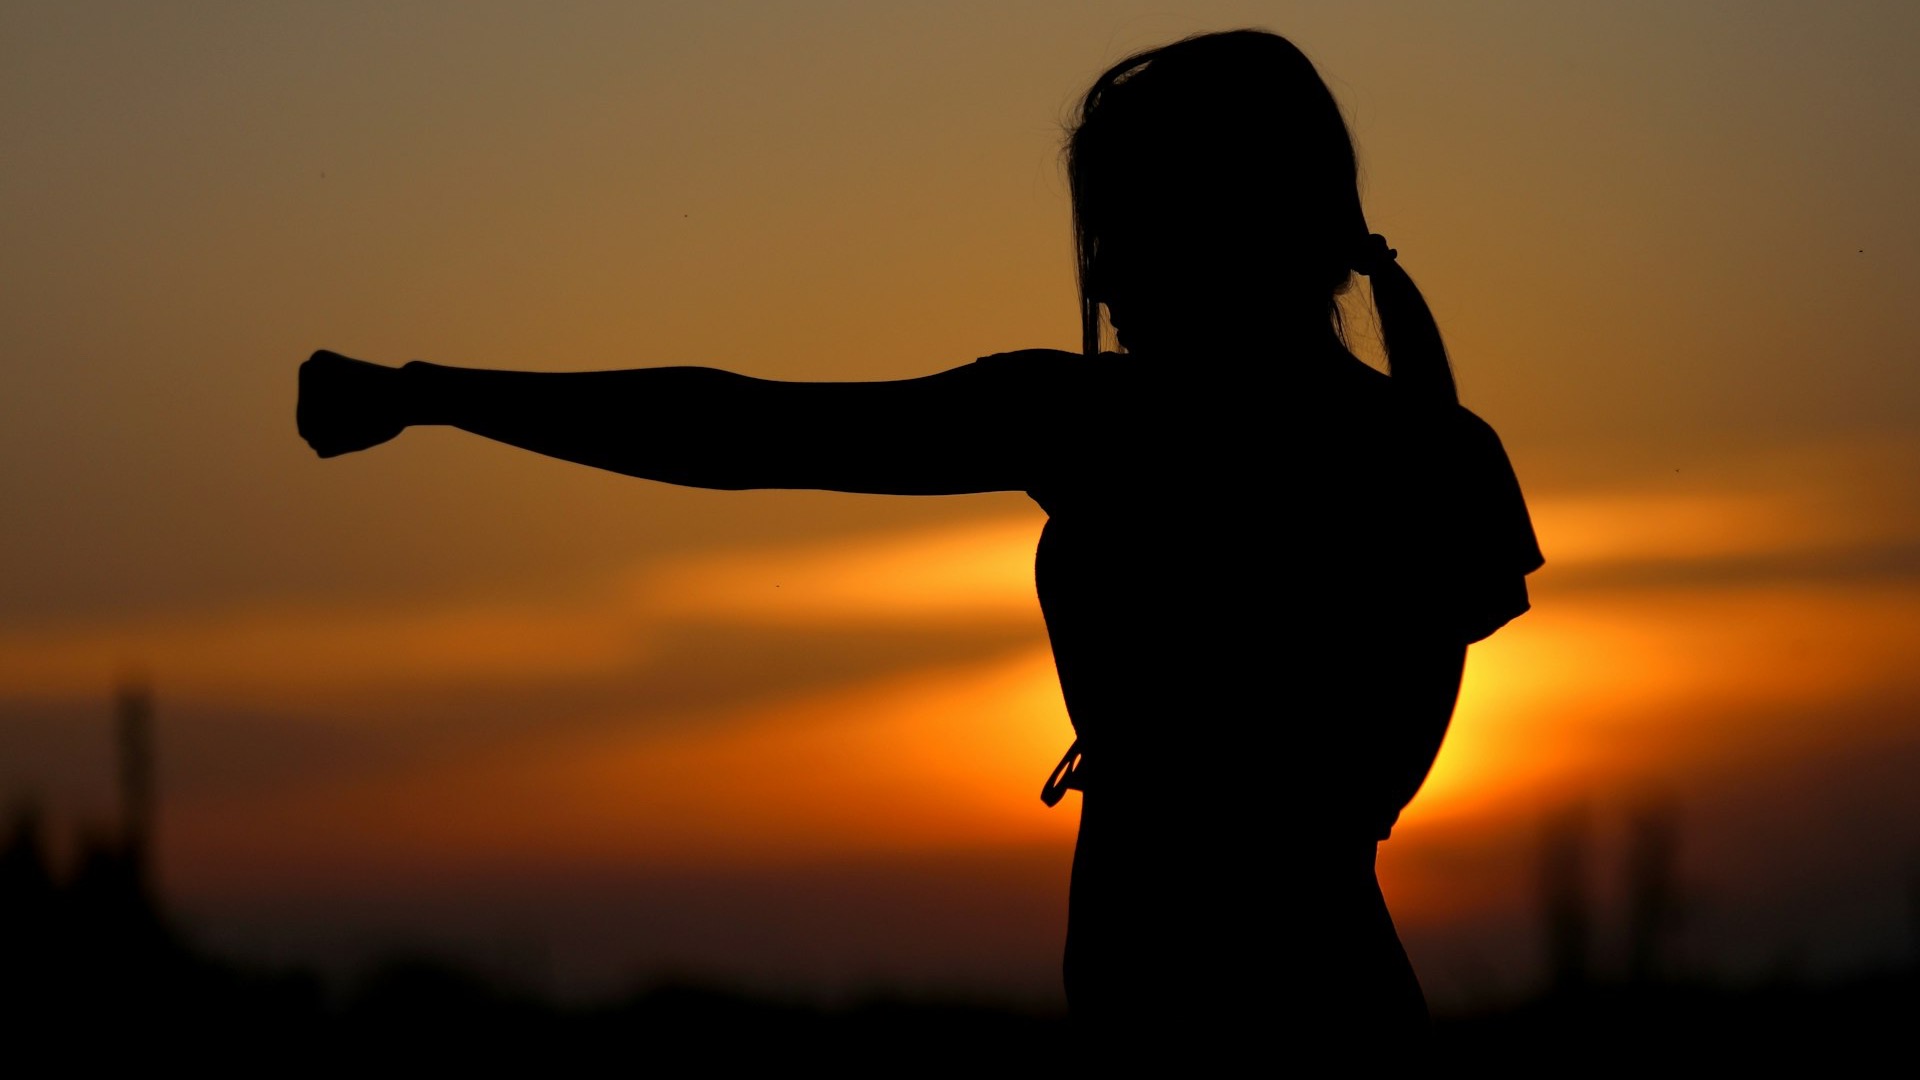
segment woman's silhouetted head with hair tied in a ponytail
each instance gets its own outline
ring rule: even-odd
[[[1198,35],[1094,79],[1068,135],[1081,346],[1102,307],[1327,319],[1373,279],[1388,373],[1455,400],[1427,300],[1359,208],[1354,140],[1313,61],[1267,31]]]

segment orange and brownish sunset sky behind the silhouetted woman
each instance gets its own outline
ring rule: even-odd
[[[1603,944],[1668,807],[1695,969],[1920,947],[1910,4],[6,4],[0,799],[111,821],[144,673],[236,955],[1058,997],[1025,496],[317,461],[294,371],[1075,348],[1077,92],[1240,25],[1340,98],[1548,557],[1382,847],[1430,995],[1538,976],[1569,807]]]

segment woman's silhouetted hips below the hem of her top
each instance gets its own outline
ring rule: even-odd
[[[1110,796],[1087,796],[1073,855],[1066,980],[1081,1022],[1425,1030],[1371,838]]]

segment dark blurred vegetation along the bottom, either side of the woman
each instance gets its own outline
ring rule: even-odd
[[[1555,1070],[1653,1059],[1836,1063],[1897,1053],[1920,1015],[1916,969],[1730,984],[1644,963],[1592,976],[1578,911],[1549,903],[1546,926],[1557,940],[1548,988],[1436,1017],[1444,1059]],[[244,967],[169,922],[125,838],[96,840],[71,874],[56,876],[31,813],[0,849],[0,1015],[15,1053],[65,1047],[81,1059],[202,1065],[346,1065],[378,1053],[440,1065],[697,1057],[705,1067],[1025,1072],[1064,1065],[1069,1043],[1066,1017],[995,1001],[870,995],[822,1005],[680,982],[559,1003],[432,955],[396,955],[348,980]]]

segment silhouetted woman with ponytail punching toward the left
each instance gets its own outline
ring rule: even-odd
[[[1260,31],[1131,56],[1068,140],[1083,352],[899,382],[699,367],[516,373],[315,354],[323,455],[453,425],[703,488],[1029,492],[1083,792],[1075,1020],[1121,1053],[1417,1042],[1373,874],[1432,765],[1467,644],[1540,565],[1492,429],[1369,234],[1313,65]],[[1338,296],[1371,277],[1390,375]],[[1102,352],[1110,325],[1116,352]]]

